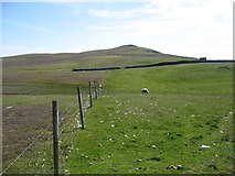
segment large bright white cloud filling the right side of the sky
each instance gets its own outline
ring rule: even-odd
[[[90,10],[117,21],[89,29],[124,41],[139,40],[142,46],[164,46],[165,53],[232,59],[232,0],[152,0],[126,11]]]

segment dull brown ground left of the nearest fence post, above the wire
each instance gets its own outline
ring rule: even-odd
[[[39,105],[2,107],[3,168],[41,133],[42,129],[51,131],[51,107]]]

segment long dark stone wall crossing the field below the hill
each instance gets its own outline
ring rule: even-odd
[[[234,63],[235,61],[177,61],[177,62],[161,62],[156,64],[147,65],[135,65],[135,66],[124,66],[124,67],[89,67],[89,68],[74,68],[72,72],[90,72],[90,70],[110,70],[110,69],[132,69],[132,68],[148,68],[148,67],[159,67],[168,65],[180,65],[180,64],[200,64],[200,63]]]

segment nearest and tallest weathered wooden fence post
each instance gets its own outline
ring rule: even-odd
[[[57,101],[52,101],[53,112],[53,152],[54,152],[54,174],[57,176],[58,170],[58,108]]]

